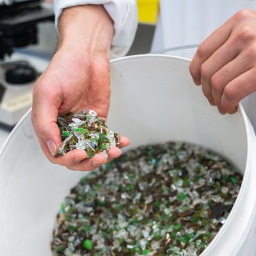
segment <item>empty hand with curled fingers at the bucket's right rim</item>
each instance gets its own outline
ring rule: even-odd
[[[256,12],[241,10],[198,47],[189,71],[221,114],[256,92]]]

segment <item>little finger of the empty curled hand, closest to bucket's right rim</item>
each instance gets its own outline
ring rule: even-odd
[[[235,113],[240,100],[255,92],[255,81],[256,68],[251,68],[228,83],[221,97],[223,108],[227,109],[227,112],[230,114]]]

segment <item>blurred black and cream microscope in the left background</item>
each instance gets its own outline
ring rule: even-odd
[[[0,127],[11,130],[31,108],[40,75],[28,61],[12,61],[15,49],[35,45],[37,25],[53,21],[51,8],[41,0],[0,0]]]

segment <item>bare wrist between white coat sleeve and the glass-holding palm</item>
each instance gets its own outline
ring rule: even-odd
[[[109,60],[113,33],[113,20],[102,5],[66,8],[59,19],[58,49]]]

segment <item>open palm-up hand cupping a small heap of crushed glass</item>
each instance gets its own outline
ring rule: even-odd
[[[106,120],[109,109],[108,60],[111,40],[108,41],[108,37],[103,35],[105,42],[108,42],[107,45],[88,40],[90,45],[84,49],[86,42],[79,44],[73,33],[76,33],[74,29],[72,36],[68,36],[68,41],[61,38],[58,51],[36,83],[33,92],[32,122],[42,150],[49,161],[67,166],[71,170],[93,170],[100,164],[120,156],[120,148],[129,145],[129,140],[121,136],[120,148],[109,149],[108,159],[102,154],[87,159],[86,152],[77,149],[54,157],[61,143],[60,131],[56,124],[58,113],[93,109]],[[113,35],[113,31],[109,34]],[[95,37],[96,40],[99,39],[98,36]]]

